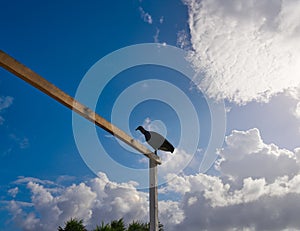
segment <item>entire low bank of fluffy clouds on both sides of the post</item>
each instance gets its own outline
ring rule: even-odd
[[[232,131],[219,155],[220,176],[166,174],[159,192],[168,199],[159,201],[159,218],[167,230],[300,229],[300,148],[266,144],[254,128]],[[148,220],[148,193],[135,182],[111,182],[104,173],[70,186],[36,178],[15,184],[6,207],[22,230],[55,230],[71,217],[84,219],[89,229],[120,217]],[[17,201],[24,184],[29,203]]]

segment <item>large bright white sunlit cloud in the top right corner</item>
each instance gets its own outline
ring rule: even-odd
[[[236,103],[300,84],[300,2],[186,0],[199,87]]]

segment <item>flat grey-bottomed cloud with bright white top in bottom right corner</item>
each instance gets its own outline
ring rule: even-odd
[[[197,177],[205,181],[203,175]],[[231,190],[213,177],[212,186],[184,195],[185,219],[174,230],[298,230],[299,178],[272,184],[247,178],[240,190]],[[198,184],[191,189],[194,186]]]

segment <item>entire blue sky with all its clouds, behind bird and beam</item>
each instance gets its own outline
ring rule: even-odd
[[[284,216],[300,210],[297,9],[297,1],[279,0],[10,1],[1,3],[0,44],[73,97],[92,67],[112,52],[146,43],[183,49],[182,63],[199,73],[193,82],[166,66],[134,66],[102,86],[95,108],[141,142],[138,125],[166,135],[176,147],[174,155],[159,153],[166,230],[297,230],[297,219]],[[112,70],[126,58],[109,63]],[[87,96],[95,86],[88,86]],[[170,98],[159,100],[163,95]],[[213,128],[223,118],[214,121],[211,105],[223,103],[224,144],[212,152],[218,160],[200,172]],[[97,139],[105,151],[83,133],[83,152],[72,116],[0,69],[0,230],[53,230],[70,217],[84,219],[90,229],[101,220],[148,219],[148,179],[144,173],[137,177],[141,182],[129,177],[135,169],[147,170],[145,158],[100,128]],[[88,121],[80,126],[93,127]],[[101,166],[104,155],[128,176],[116,177],[118,172],[106,170],[110,166],[91,167]],[[277,214],[276,222],[275,215],[257,211]]]

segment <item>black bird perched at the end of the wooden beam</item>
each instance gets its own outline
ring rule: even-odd
[[[141,133],[144,134],[147,143],[152,148],[154,148],[155,153],[157,150],[162,150],[171,153],[174,152],[173,145],[169,141],[167,141],[165,137],[158,134],[157,132],[147,131],[142,126],[138,126],[135,130],[139,130]]]

